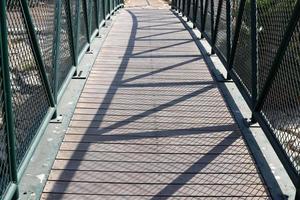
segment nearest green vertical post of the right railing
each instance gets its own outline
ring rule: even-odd
[[[256,0],[251,0],[251,73],[252,73],[252,112],[254,112],[254,107],[257,102],[257,67],[258,67],[258,46],[257,46],[257,5]],[[256,123],[254,116],[252,114],[251,122]]]

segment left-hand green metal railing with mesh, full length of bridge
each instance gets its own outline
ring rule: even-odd
[[[122,0],[1,0],[0,199],[18,182],[91,41]]]

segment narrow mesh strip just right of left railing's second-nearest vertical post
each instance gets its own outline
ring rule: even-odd
[[[71,31],[71,25],[68,24],[68,19],[67,19],[67,2],[66,0],[62,0],[59,73],[58,73],[59,89],[61,88],[64,80],[66,79],[72,67],[71,38],[69,35],[70,31]]]

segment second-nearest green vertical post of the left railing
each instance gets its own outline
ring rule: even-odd
[[[56,0],[55,6],[55,35],[54,35],[54,43],[53,43],[53,70],[54,70],[54,80],[53,80],[53,96],[55,104],[57,104],[57,96],[58,96],[58,79],[59,79],[59,50],[60,50],[60,31],[61,31],[61,0]],[[57,118],[57,110],[53,114],[53,119]]]

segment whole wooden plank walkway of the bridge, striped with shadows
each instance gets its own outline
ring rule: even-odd
[[[179,19],[155,6],[123,9],[89,75],[42,199],[268,195]]]

